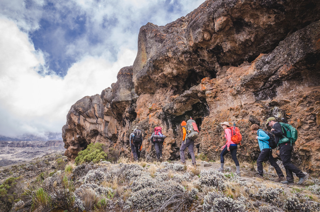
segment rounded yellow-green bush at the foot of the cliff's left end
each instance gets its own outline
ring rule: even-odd
[[[77,165],[84,162],[98,163],[100,159],[106,160],[108,158],[107,153],[102,149],[102,143],[91,143],[87,146],[87,149],[82,150],[78,153],[75,159]]]

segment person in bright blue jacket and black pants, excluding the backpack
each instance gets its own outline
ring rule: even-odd
[[[260,155],[257,159],[257,169],[258,169],[258,177],[263,178],[263,166],[262,162],[268,158],[271,166],[273,166],[276,169],[276,173],[278,175],[278,179],[275,180],[275,182],[281,182],[284,180],[283,172],[281,171],[281,168],[276,163],[276,160],[272,156],[272,149],[269,146],[269,139],[270,137],[262,130],[257,124],[253,124],[251,126],[252,133],[256,133],[256,139],[258,140],[258,144],[260,147]]]

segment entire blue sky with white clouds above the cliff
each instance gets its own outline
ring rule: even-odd
[[[77,100],[133,64],[142,25],[204,0],[1,0],[0,135],[60,133]]]

